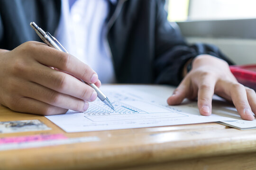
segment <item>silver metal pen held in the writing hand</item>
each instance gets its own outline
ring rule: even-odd
[[[53,47],[59,51],[63,51],[68,53],[68,51],[66,51],[66,49],[64,49],[64,47],[60,44],[60,42],[58,42],[58,40],[52,36],[50,33],[48,32],[44,32],[44,30],[42,30],[41,28],[39,28],[37,26],[37,24],[35,22],[31,22],[30,26],[36,31],[36,33],[39,35],[39,37],[50,47]],[[80,79],[81,80],[81,79]],[[83,83],[85,83],[83,80],[81,80]],[[87,83],[85,83],[87,84]],[[109,99],[107,98],[107,96],[101,92],[101,90],[94,84],[89,84],[92,88],[94,88],[94,90],[97,92],[97,96],[99,99],[101,99],[102,102],[104,102],[106,105],[108,105],[112,110],[115,110],[113,105],[111,104],[111,102],[109,101]]]

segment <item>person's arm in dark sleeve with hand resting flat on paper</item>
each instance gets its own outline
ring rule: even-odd
[[[158,5],[156,83],[178,85],[182,81],[174,95],[168,98],[168,104],[180,104],[184,98],[198,98],[200,113],[210,115],[212,95],[216,93],[232,101],[242,119],[253,120],[252,111],[256,113],[255,91],[237,82],[229,70],[228,64],[232,62],[215,46],[202,43],[187,45],[179,29],[175,30],[168,24],[163,10],[164,1],[159,1]],[[192,70],[183,78],[186,63],[192,59]]]

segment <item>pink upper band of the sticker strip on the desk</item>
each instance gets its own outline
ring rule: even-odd
[[[63,134],[1,137],[0,144],[38,142],[38,141],[66,139],[66,138],[67,137],[64,136]]]

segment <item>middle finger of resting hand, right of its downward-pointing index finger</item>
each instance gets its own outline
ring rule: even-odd
[[[254,120],[255,117],[248,103],[245,87],[239,83],[233,84],[231,88],[229,88],[229,94],[231,95],[232,101],[241,118],[245,120]]]

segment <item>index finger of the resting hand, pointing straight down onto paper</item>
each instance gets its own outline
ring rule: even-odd
[[[214,80],[209,78],[202,79],[198,89],[198,108],[203,116],[210,116],[212,108],[212,96],[214,94]]]

